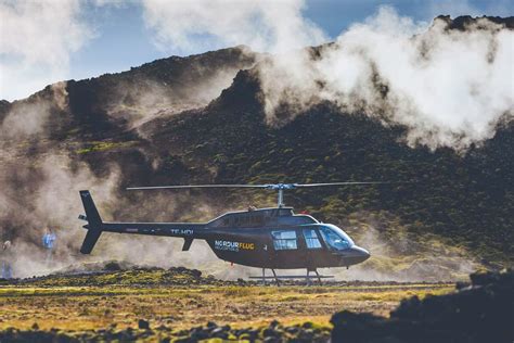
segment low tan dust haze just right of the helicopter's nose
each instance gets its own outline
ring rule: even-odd
[[[349,269],[329,270],[339,280],[362,281],[454,281],[465,280],[480,265],[467,251],[452,246],[438,237],[413,238],[401,226],[380,229],[376,223],[351,228],[359,246],[370,251],[367,262]],[[376,226],[375,226],[376,225]],[[391,234],[393,233],[393,234]]]

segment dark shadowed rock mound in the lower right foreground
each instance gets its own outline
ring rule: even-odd
[[[471,284],[441,296],[403,300],[390,318],[337,313],[334,342],[510,342],[514,272],[474,274]]]

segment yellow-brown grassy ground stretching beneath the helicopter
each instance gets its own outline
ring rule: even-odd
[[[220,327],[229,325],[230,330],[255,331],[269,329],[278,319],[281,323],[274,323],[273,330],[290,328],[299,334],[306,327],[326,338],[330,319],[336,312],[387,316],[404,297],[424,298],[454,290],[448,283],[396,282],[335,282],[321,287],[292,282],[280,288],[264,287],[242,280],[220,281],[185,268],[102,270],[0,284],[3,332],[54,329],[72,336],[86,330],[111,330],[112,334],[127,329],[138,331],[141,320],[178,338],[191,328],[207,329],[208,322],[211,327],[216,322]],[[230,330],[223,332],[233,335]]]

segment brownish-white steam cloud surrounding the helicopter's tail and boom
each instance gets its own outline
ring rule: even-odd
[[[210,86],[218,80],[210,79]],[[146,101],[143,93],[138,96],[140,101]],[[204,97],[206,101],[208,94]],[[146,104],[150,106],[151,101]],[[195,241],[190,252],[181,253],[181,239],[103,233],[92,255],[79,253],[86,234],[80,228],[86,223],[77,219],[83,213],[78,195],[82,189],[91,191],[104,220],[172,221],[179,216],[188,218],[184,213],[191,213],[189,216],[194,218],[211,218],[220,213],[206,200],[194,199],[202,205],[196,203],[193,207],[184,194],[123,192],[123,173],[116,163],[103,166],[104,172],[99,175],[63,149],[60,145],[63,142],[52,141],[53,130],[68,122],[70,115],[66,82],[60,82],[27,101],[14,102],[1,123],[0,240],[13,243],[10,262],[14,277],[48,275],[69,266],[80,268],[112,259],[223,272],[228,264],[218,261],[203,241]],[[184,206],[189,207],[184,209]],[[57,237],[50,263],[42,245],[47,228],[53,229]]]

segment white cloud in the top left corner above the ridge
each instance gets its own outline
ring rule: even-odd
[[[0,99],[20,99],[67,76],[92,31],[78,0],[0,1]]]

